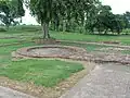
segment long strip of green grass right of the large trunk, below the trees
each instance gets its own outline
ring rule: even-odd
[[[130,45],[130,35],[119,35],[119,36],[107,36],[107,35],[84,35],[77,33],[54,33],[51,32],[51,35],[57,39],[63,40],[79,40],[79,41],[118,41],[122,45]]]

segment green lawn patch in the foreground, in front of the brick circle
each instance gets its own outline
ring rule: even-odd
[[[36,85],[52,87],[73,73],[83,70],[79,63],[60,60],[22,60],[0,69],[0,75],[21,82],[34,82]]]

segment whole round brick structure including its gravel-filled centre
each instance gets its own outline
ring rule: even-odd
[[[58,46],[58,45],[48,45],[48,46],[35,46],[26,47],[16,50],[16,54],[30,57],[30,58],[64,58],[69,59],[74,56],[81,56],[86,52],[84,49],[70,46]]]

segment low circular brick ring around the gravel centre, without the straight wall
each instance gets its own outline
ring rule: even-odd
[[[72,54],[61,56],[61,54],[46,54],[46,56],[39,56],[39,54],[30,54],[28,51],[32,49],[38,48],[62,48],[62,49],[69,49],[73,51]],[[28,58],[61,58],[61,59],[72,59],[72,56],[77,56],[77,53],[80,56],[82,52],[87,52],[83,48],[78,47],[70,47],[70,46],[60,46],[60,45],[48,45],[48,46],[35,46],[35,47],[25,47],[21,48],[15,51],[15,54],[28,57]],[[14,53],[13,53],[14,54]],[[15,57],[15,54],[13,57]],[[75,58],[74,58],[75,59]]]

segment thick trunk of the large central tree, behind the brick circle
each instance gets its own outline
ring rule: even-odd
[[[51,38],[49,34],[49,23],[43,23],[42,25],[42,32],[43,32],[43,39]]]

